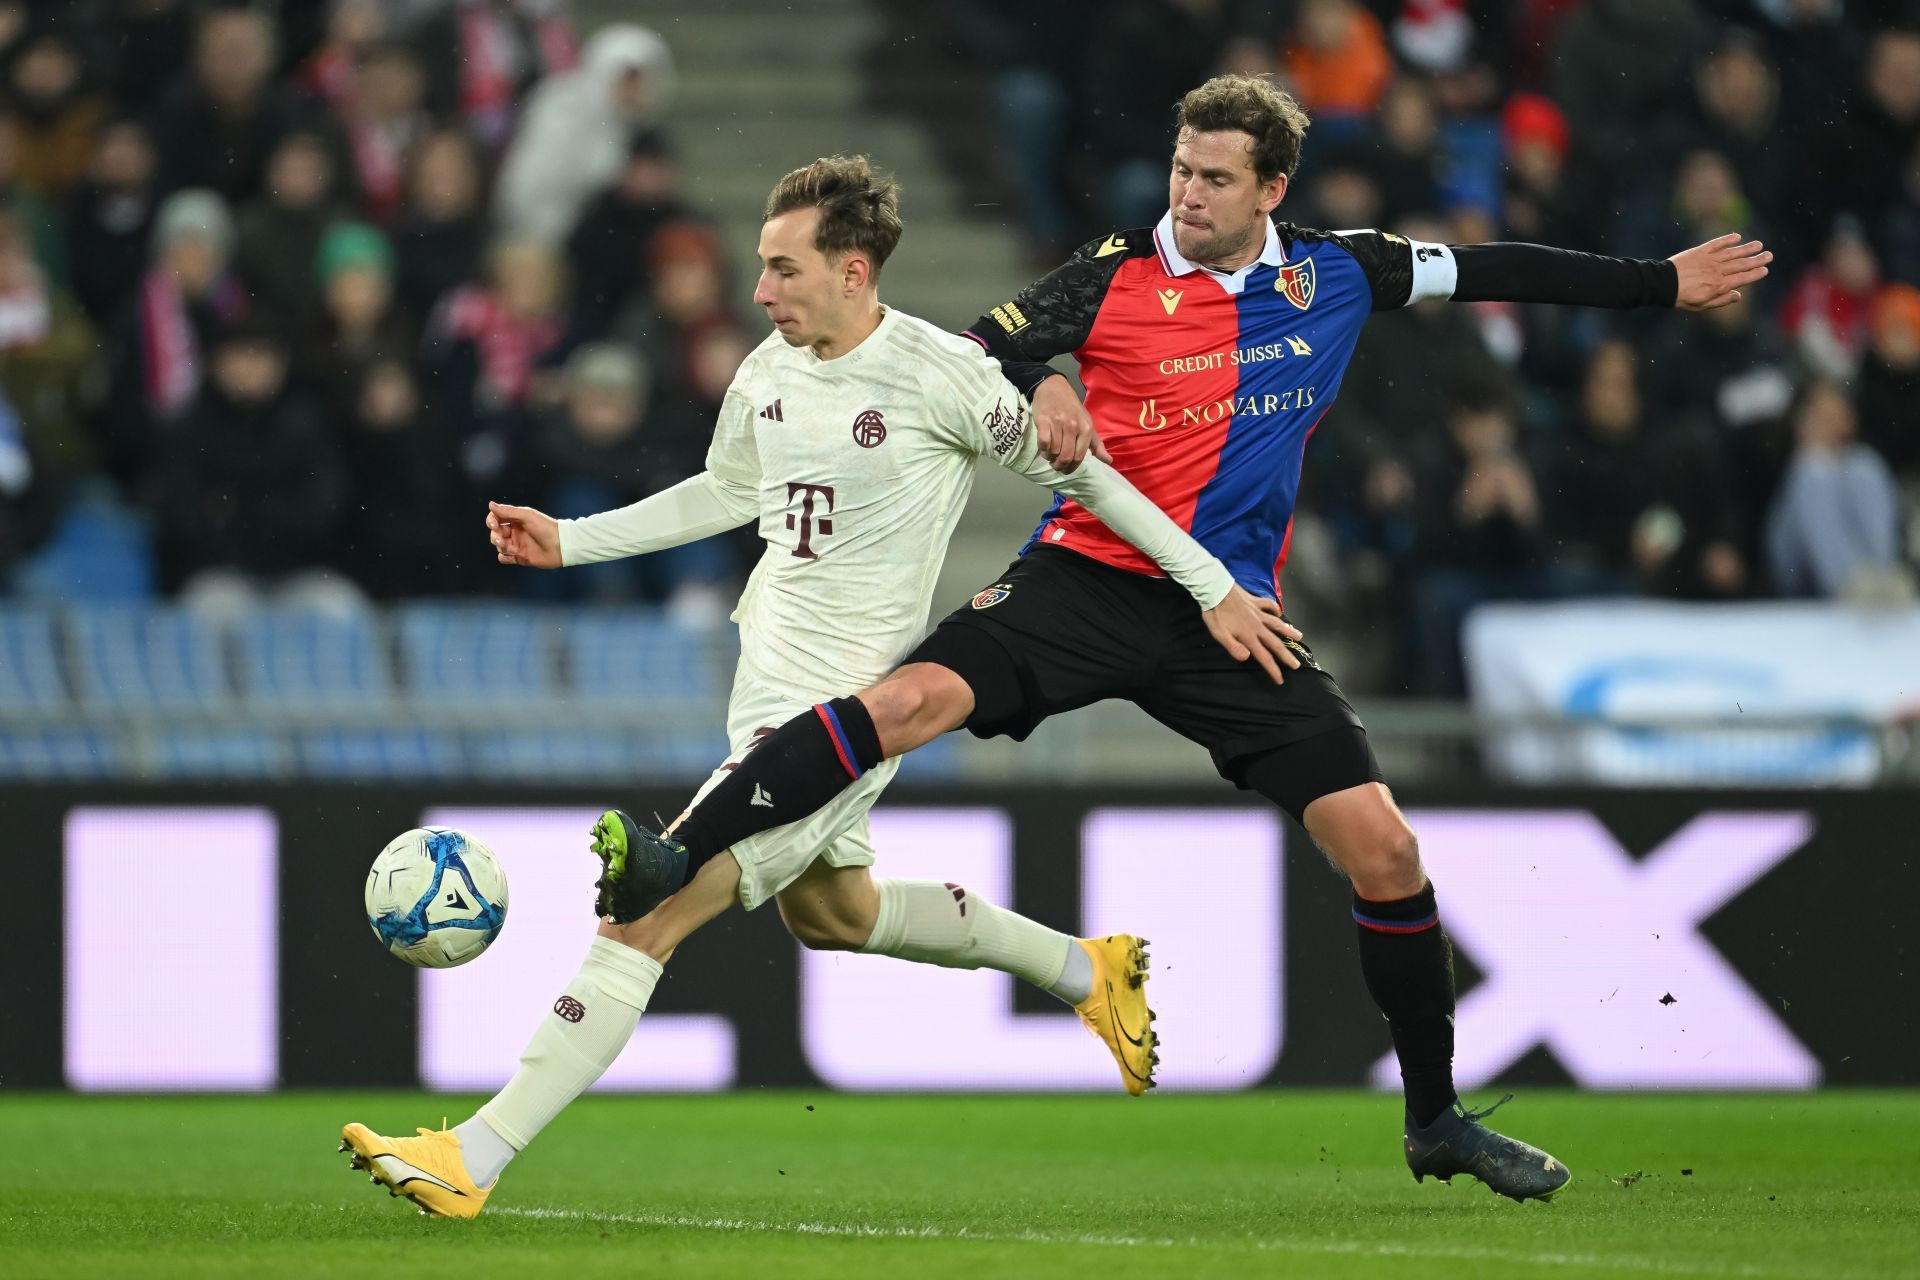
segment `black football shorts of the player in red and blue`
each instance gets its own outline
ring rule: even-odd
[[[995,643],[981,645],[983,635]],[[1244,762],[1269,750],[1334,729],[1359,729],[1363,741],[1340,685],[1306,645],[1296,652],[1300,670],[1275,685],[1258,662],[1219,647],[1179,583],[1041,545],[941,620],[906,662],[937,662],[968,681],[975,737],[1018,741],[1048,716],[1127,699],[1244,785]],[[1327,793],[1380,781],[1371,750],[1354,756],[1342,754],[1354,777],[1327,779]]]

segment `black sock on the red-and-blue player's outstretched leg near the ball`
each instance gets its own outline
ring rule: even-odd
[[[733,841],[806,818],[883,758],[860,699],[801,712],[760,739],[680,821],[674,839],[687,846],[687,877]]]

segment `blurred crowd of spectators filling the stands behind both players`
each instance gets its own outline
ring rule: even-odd
[[[941,25],[1035,263],[1158,219],[1169,106],[1217,69],[1313,115],[1288,221],[1776,251],[1707,317],[1375,319],[1290,585],[1390,633],[1402,687],[1457,691],[1490,599],[1912,597],[1920,13],[968,0]],[[588,514],[697,470],[760,322],[684,203],[670,96],[655,33],[582,42],[564,0],[0,0],[0,589],[106,507],[140,535],[104,589],[150,564],[209,608],[499,591],[480,497]],[[749,555],[513,589],[712,616]],[[42,595],[88,589],[61,572]]]

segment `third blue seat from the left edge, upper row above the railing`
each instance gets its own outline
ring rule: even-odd
[[[240,624],[240,689],[276,710],[367,708],[392,699],[394,679],[371,614],[269,608]]]

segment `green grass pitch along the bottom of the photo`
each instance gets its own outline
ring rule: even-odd
[[[476,1222],[334,1151],[470,1107],[0,1094],[0,1276],[1920,1276],[1920,1092],[1528,1090],[1551,1205],[1415,1186],[1352,1092],[589,1098]]]

